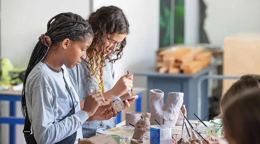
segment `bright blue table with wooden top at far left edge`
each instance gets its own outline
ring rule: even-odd
[[[0,117],[0,124],[9,124],[10,134],[9,143],[15,144],[16,124],[24,124],[23,118],[16,118],[16,101],[21,101],[21,92],[0,91],[0,101],[10,101],[10,117]]]

